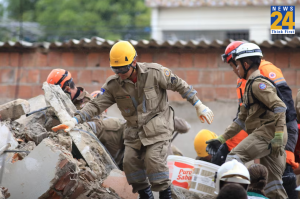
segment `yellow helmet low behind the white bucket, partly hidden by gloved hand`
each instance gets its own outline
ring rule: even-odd
[[[201,131],[199,131],[194,139],[194,147],[197,155],[199,157],[208,156],[208,153],[206,152],[207,144],[205,142],[210,139],[215,139],[217,137],[218,136],[215,133],[209,130],[202,129]]]

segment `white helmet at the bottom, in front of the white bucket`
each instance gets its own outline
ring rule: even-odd
[[[250,174],[248,169],[242,163],[237,160],[232,160],[225,162],[215,175],[216,194],[219,194],[220,192],[220,181],[249,185]]]

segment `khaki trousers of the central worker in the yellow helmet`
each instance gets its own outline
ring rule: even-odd
[[[153,191],[163,191],[170,186],[167,166],[169,149],[170,141],[142,146],[140,150],[125,146],[123,168],[134,193],[150,185]]]

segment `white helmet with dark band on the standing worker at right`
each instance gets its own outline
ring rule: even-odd
[[[235,60],[238,60],[243,57],[252,57],[252,56],[262,57],[263,54],[258,45],[254,44],[254,43],[244,43],[244,44],[241,44],[236,49],[236,51],[233,53],[232,56]]]

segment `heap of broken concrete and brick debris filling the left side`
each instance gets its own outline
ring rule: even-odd
[[[59,86],[44,83],[43,90],[0,105],[0,199],[138,198],[88,125],[68,134],[51,130],[76,108]],[[174,199],[214,198],[174,186],[172,193]]]

